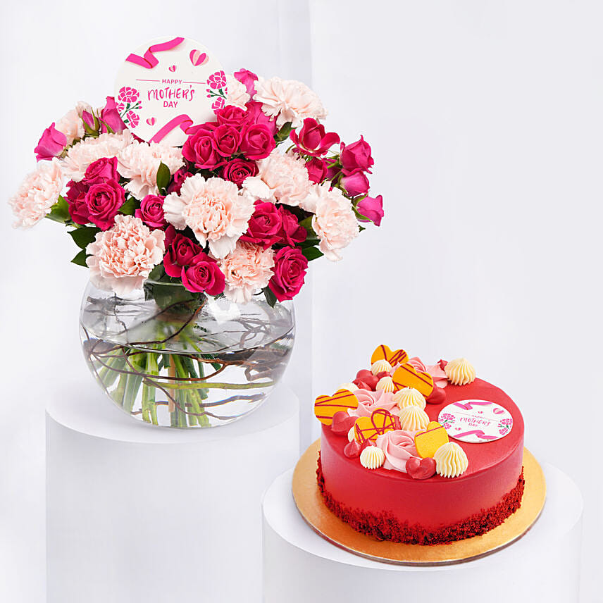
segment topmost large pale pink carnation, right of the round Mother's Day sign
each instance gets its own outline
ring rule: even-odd
[[[268,117],[276,117],[279,128],[287,121],[297,128],[306,117],[322,119],[327,116],[318,94],[296,80],[281,80],[280,77],[264,80],[259,77],[254,101],[262,104],[262,111]]]

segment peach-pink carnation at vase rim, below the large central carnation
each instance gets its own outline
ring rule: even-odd
[[[235,250],[220,261],[226,279],[224,294],[237,304],[247,304],[251,296],[271,280],[274,251],[255,243],[238,242]]]

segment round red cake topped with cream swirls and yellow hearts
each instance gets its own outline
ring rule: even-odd
[[[373,367],[375,357],[389,362],[394,352],[382,346],[375,354]],[[467,361],[454,363],[469,374],[459,378],[452,363],[425,366],[404,352],[390,371],[373,378],[359,371],[332,397],[318,397],[318,486],[328,508],[355,530],[434,545],[483,534],[519,508],[521,412],[498,387],[475,378]]]

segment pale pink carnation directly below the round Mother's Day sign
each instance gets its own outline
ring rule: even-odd
[[[142,201],[147,194],[158,194],[157,170],[159,163],[168,166],[170,174],[184,165],[182,149],[169,147],[163,142],[138,142],[129,144],[117,155],[118,172],[130,178],[125,189]]]

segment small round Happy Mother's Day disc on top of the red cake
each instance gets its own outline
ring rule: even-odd
[[[513,428],[511,413],[487,400],[452,402],[440,411],[437,421],[449,437],[471,443],[499,440]]]

